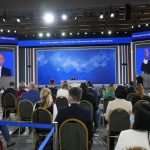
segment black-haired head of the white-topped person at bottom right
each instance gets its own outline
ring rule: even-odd
[[[138,101],[133,107],[134,123],[133,129],[150,131],[150,102]]]

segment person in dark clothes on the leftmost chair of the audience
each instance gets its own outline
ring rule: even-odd
[[[7,88],[6,90],[4,90],[4,93],[1,96],[2,106],[3,106],[3,101],[4,101],[5,96],[8,93],[13,94],[15,96],[16,92],[17,92],[17,90],[15,89],[15,83],[14,82],[10,82],[9,83],[9,88]],[[10,116],[10,112],[7,111],[6,112],[6,118],[8,118],[9,116]],[[4,112],[3,112],[3,118],[4,118]]]

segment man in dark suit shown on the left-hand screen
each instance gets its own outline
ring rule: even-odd
[[[0,77],[11,76],[11,70],[3,66],[4,62],[5,57],[4,55],[0,54]]]

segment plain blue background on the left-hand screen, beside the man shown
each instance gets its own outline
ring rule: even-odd
[[[3,66],[10,69],[12,76],[14,76],[14,52],[0,51],[0,54],[3,54],[5,57],[5,63]]]

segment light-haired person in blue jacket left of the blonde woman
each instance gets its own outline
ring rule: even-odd
[[[29,91],[21,94],[20,100],[30,100],[33,104],[40,100],[40,93],[36,89],[36,85],[33,82],[29,83]]]

